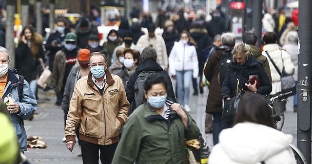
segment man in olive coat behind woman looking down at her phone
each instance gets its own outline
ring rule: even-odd
[[[258,61],[262,62],[262,66],[265,69],[265,72],[267,73],[270,82],[272,82],[270,64],[268,62],[268,59],[265,56],[261,55],[261,49],[259,47],[256,47],[258,43],[257,40],[258,37],[254,31],[247,31],[243,34],[243,43],[246,43],[251,47],[251,54],[253,54]]]

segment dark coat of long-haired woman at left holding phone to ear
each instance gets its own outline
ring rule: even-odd
[[[39,54],[36,59],[33,59],[33,54],[27,44],[20,42],[18,48],[16,49],[16,68],[18,69],[18,74],[24,76],[27,82],[31,82],[37,79],[39,75],[39,58],[43,57],[43,48],[39,44]]]

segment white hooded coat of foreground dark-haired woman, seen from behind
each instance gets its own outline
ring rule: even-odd
[[[237,123],[224,129],[209,156],[209,164],[296,164],[292,135],[257,123]]]

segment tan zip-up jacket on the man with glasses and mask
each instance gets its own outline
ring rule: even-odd
[[[120,128],[128,118],[130,107],[122,80],[106,72],[103,96],[93,83],[90,73],[78,80],[67,115],[66,142],[76,142],[76,128],[80,123],[80,140],[98,145],[119,141]]]

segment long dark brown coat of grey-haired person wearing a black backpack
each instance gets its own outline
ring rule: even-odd
[[[206,79],[210,82],[209,94],[206,105],[206,112],[221,112],[222,111],[222,97],[221,97],[221,86],[219,84],[219,64],[221,56],[226,49],[217,48],[213,51],[209,57],[204,70]]]

